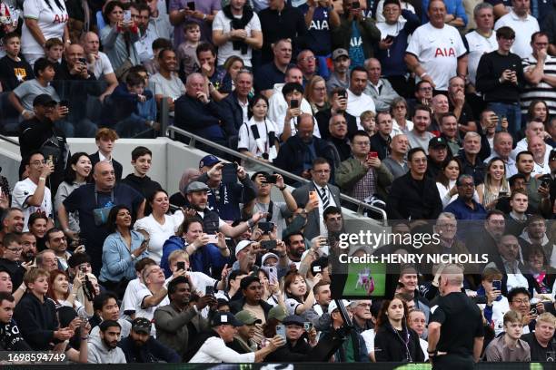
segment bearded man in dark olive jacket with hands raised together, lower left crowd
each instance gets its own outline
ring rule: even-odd
[[[211,295],[200,297],[190,306],[191,284],[186,277],[176,277],[168,284],[170,304],[154,311],[156,339],[184,357],[194,336],[208,329],[208,321],[201,316],[204,307],[212,306]]]

